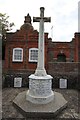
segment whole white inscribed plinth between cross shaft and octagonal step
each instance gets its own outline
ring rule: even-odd
[[[52,91],[52,77],[35,76],[34,74],[29,76],[29,90],[26,94],[26,100],[35,104],[46,104],[54,99],[54,93]]]

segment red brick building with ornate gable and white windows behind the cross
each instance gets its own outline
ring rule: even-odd
[[[31,17],[25,16],[24,24],[14,33],[7,33],[4,71],[7,75],[26,77],[36,69],[38,59],[38,31],[34,30]],[[52,42],[48,33],[45,38],[45,68],[54,75],[55,71],[75,73],[79,60],[80,33],[75,33],[71,42]],[[61,67],[60,67],[61,66]],[[58,68],[58,69],[57,69]],[[24,82],[25,83],[25,82]]]

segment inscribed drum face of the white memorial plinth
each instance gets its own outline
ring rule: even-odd
[[[51,93],[51,80],[33,80],[29,81],[29,90],[33,95],[42,95],[46,96]]]

